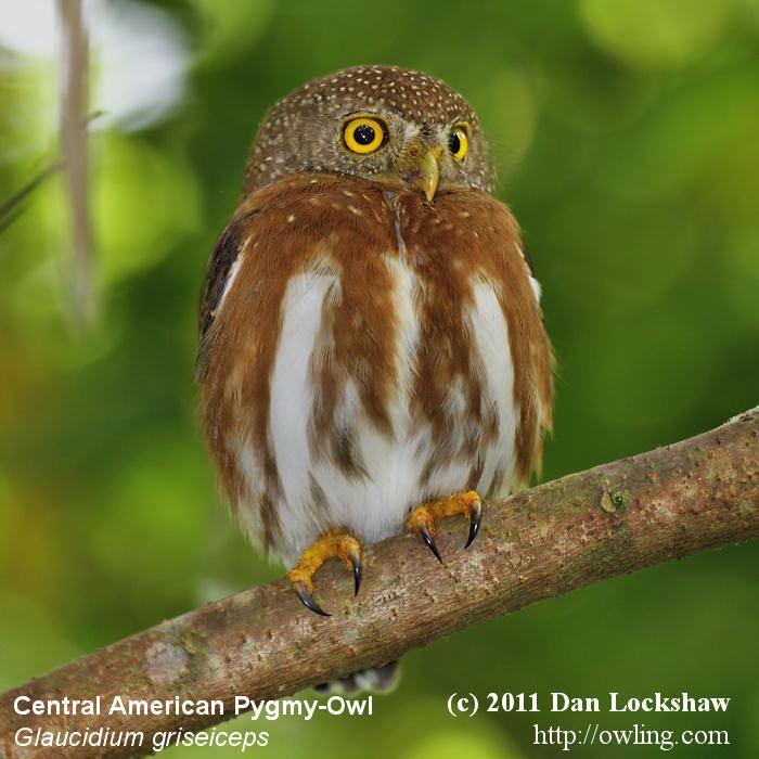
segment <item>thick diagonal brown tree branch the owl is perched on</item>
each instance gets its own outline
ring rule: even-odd
[[[334,616],[305,610],[279,580],[167,620],[0,695],[0,756],[50,756],[14,744],[18,728],[198,730],[233,716],[236,694],[278,698],[381,665],[476,621],[607,577],[759,537],[759,407],[689,440],[574,474],[486,504],[467,551],[464,520],[439,531],[441,567],[412,536],[368,548],[364,583],[337,563],[317,588]],[[224,717],[108,716],[116,695],[219,698]],[[102,696],[102,716],[27,716],[31,698]],[[56,756],[123,757],[133,749],[55,749]]]

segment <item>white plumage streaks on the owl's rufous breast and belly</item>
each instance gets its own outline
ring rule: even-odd
[[[417,351],[429,346],[420,340],[417,281],[412,269],[397,257],[387,257],[391,272],[393,301],[397,329],[385,339],[394,344],[397,376],[391,393],[389,419],[393,435],[376,428],[365,413],[355,380],[349,380],[338,400],[336,423],[349,432],[361,472],[346,473],[332,460],[313,450],[309,425],[313,423],[313,356],[324,351],[322,319],[325,298],[340,297],[337,274],[307,271],[294,278],[282,304],[282,332],[271,377],[269,438],[276,461],[281,497],[274,504],[283,536],[275,545],[285,562],[297,555],[324,530],[344,527],[364,542],[375,542],[402,531],[410,509],[417,503],[471,487],[475,462],[453,456],[429,476],[425,466],[435,452],[428,424],[411,420],[411,394]],[[496,413],[498,434],[477,451],[479,481],[486,493],[496,483],[511,485],[517,411],[514,408],[514,371],[509,349],[509,329],[493,286],[473,282],[473,306],[464,324],[476,345],[473,371],[481,373],[481,413]],[[335,326],[336,330],[340,325]],[[464,412],[463,388],[453,386],[445,411],[455,419]],[[464,425],[450,432],[453,450],[463,446]],[[456,440],[456,437],[462,437]],[[241,474],[250,494],[248,524],[255,532],[253,514],[261,488],[256,452],[239,455]],[[425,479],[428,485],[424,485]],[[241,504],[245,510],[245,503]],[[245,515],[243,514],[243,518]]]

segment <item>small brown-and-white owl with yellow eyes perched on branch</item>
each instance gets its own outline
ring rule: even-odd
[[[395,66],[304,85],[265,118],[201,306],[202,416],[249,539],[300,600],[331,556],[524,487],[551,348],[479,120]],[[468,543],[467,543],[468,545]]]

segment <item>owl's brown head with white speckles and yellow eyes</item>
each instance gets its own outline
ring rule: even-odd
[[[490,191],[493,171],[472,106],[440,79],[397,66],[356,66],[279,101],[258,130],[246,190],[293,173]]]

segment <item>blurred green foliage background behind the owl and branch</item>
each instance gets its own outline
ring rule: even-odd
[[[60,178],[0,233],[0,687],[281,574],[216,494],[195,310],[256,125],[311,77],[396,63],[479,112],[558,356],[545,478],[757,403],[757,0],[92,7],[91,105],[106,112],[90,140],[97,325],[73,327]],[[56,27],[46,0],[0,11],[0,202],[57,154]],[[756,544],[730,548],[479,625],[408,655],[373,719],[272,722],[265,750],[555,756],[531,745],[533,716],[453,720],[445,699],[687,690],[731,706],[600,721],[724,729],[728,747],[674,750],[759,756],[758,569]],[[201,750],[236,755],[167,756]]]

